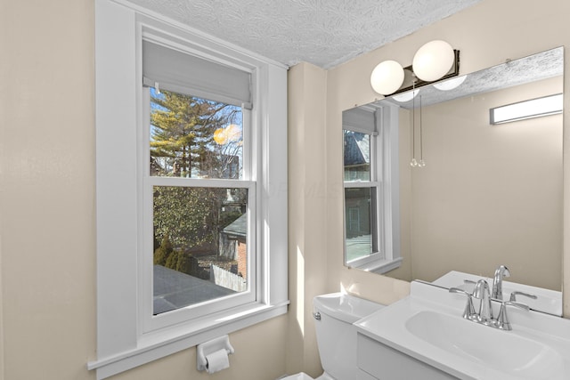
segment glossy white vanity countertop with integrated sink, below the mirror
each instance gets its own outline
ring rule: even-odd
[[[378,344],[464,380],[570,379],[570,320],[512,308],[512,331],[504,331],[463,319],[465,303],[464,295],[413,281],[411,295],[354,326]]]

